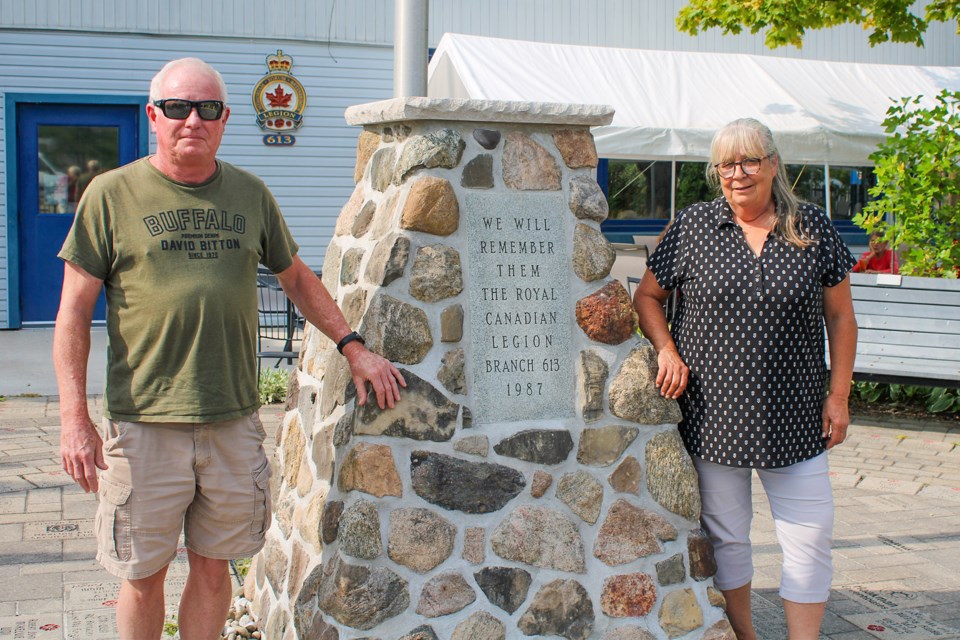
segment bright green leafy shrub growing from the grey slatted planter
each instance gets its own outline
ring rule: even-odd
[[[955,278],[960,271],[960,92],[936,103],[902,98],[888,110],[873,200],[853,221],[900,251],[904,275]]]

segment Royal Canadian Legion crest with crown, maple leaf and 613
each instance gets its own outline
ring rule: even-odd
[[[253,108],[257,110],[257,124],[267,135],[267,145],[292,145],[293,132],[303,124],[303,110],[307,108],[307,92],[293,77],[290,68],[293,58],[277,49],[267,56],[267,74],[253,89]]]

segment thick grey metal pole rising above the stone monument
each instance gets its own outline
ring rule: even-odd
[[[396,0],[393,11],[393,97],[427,95],[428,0]]]

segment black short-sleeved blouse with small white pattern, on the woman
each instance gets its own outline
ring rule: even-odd
[[[690,367],[680,397],[687,450],[736,467],[785,467],[825,450],[823,287],[856,263],[826,214],[801,204],[805,249],[768,236],[760,256],[722,196],[687,207],[648,268],[679,288],[671,327]]]

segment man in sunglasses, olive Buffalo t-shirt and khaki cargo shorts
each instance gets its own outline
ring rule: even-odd
[[[160,637],[164,577],[181,530],[190,563],[178,618],[184,640],[220,637],[231,598],[228,561],[263,546],[270,471],[257,417],[258,263],[338,342],[360,404],[368,382],[381,408],[393,407],[405,386],[350,331],[296,255],[266,186],[216,159],[230,115],[226,97],[220,74],[205,62],[167,64],[147,105],[156,155],[93,181],[60,252],[61,457],[85,491],[99,491],[97,559],[123,580],[117,626],[124,640]],[[85,374],[104,285],[101,440]]]

